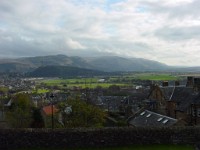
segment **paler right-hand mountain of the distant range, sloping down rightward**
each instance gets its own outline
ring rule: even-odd
[[[88,62],[96,69],[104,71],[164,71],[170,68],[152,60],[117,56],[92,58]]]

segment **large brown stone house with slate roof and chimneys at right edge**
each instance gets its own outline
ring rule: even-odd
[[[166,84],[165,84],[166,85]],[[200,124],[200,78],[188,77],[186,86],[156,86],[149,98],[156,101],[156,112],[182,120],[185,125]]]

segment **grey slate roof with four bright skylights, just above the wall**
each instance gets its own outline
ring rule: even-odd
[[[177,119],[149,110],[140,111],[128,119],[128,124],[135,127],[169,127],[176,123]]]

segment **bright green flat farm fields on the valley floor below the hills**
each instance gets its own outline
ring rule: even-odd
[[[108,88],[111,85],[117,85],[120,87],[133,86],[136,80],[152,80],[152,81],[171,81],[179,80],[180,77],[171,74],[158,74],[158,73],[126,73],[119,76],[96,76],[91,78],[50,78],[44,79],[41,82],[47,86],[59,86],[59,87],[81,87],[81,88],[95,88],[103,87]]]

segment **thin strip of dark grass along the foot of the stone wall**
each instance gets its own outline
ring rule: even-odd
[[[110,147],[110,148],[36,148],[36,149],[19,149],[19,150],[194,150],[194,146],[189,145],[146,145],[146,146],[129,146],[129,147]]]

